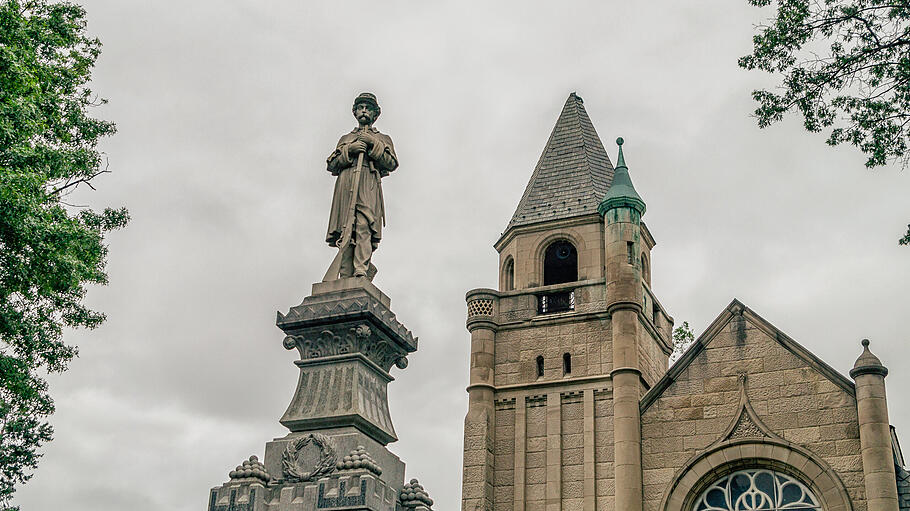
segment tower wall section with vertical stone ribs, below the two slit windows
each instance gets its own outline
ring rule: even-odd
[[[493,509],[546,511],[558,500],[560,511],[583,511],[586,499],[594,509],[612,509],[612,397],[609,382],[600,381],[498,398]]]

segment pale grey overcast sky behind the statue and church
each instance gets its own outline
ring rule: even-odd
[[[891,370],[910,446],[910,176],[827,147],[799,119],[759,130],[736,66],[745,0],[91,0],[112,174],[76,199],[127,206],[109,236],[101,328],[51,379],[55,440],[24,511],[205,509],[283,436],[297,380],[275,312],[310,292],[333,178],[325,158],[374,92],[401,162],[384,181],[375,283],[419,351],[389,386],[390,445],[456,510],[469,336],[464,293],[496,287],[492,244],[572,91],[615,160],[619,135],[657,240],[653,289],[701,333],[735,297],[846,374],[860,339]]]

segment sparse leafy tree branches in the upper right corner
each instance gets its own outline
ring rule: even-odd
[[[771,0],[748,0],[763,7]],[[849,143],[872,168],[910,162],[910,0],[777,0],[758,27],[745,69],[782,77],[752,93],[762,128],[787,112],[802,115],[827,143]],[[910,244],[910,228],[900,240]]]

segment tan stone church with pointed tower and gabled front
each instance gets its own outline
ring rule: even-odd
[[[499,289],[467,293],[462,510],[910,509],[868,341],[847,377],[733,300],[669,366],[617,143],[614,167],[571,94],[495,244]]]

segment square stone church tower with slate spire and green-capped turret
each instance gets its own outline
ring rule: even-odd
[[[614,168],[570,95],[495,245],[499,291],[467,295],[465,510],[594,510],[598,487],[641,486],[638,403],[673,327],[644,212],[622,153]]]

